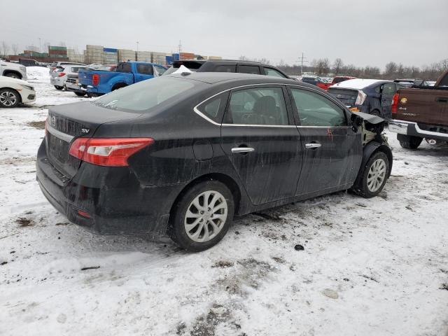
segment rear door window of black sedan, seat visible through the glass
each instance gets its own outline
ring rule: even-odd
[[[234,91],[225,123],[237,125],[288,125],[281,87],[258,87]]]

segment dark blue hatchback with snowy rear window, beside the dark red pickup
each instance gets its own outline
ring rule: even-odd
[[[328,92],[353,112],[391,118],[393,94],[401,87],[403,85],[391,80],[356,78],[332,85]]]

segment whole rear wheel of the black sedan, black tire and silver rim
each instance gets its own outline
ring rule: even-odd
[[[204,207],[207,199],[210,207]],[[215,212],[210,210],[213,205],[218,207]],[[228,232],[234,209],[232,193],[223,183],[198,183],[188,189],[174,205],[167,233],[187,251],[207,250],[218,244]]]

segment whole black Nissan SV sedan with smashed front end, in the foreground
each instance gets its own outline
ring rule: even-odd
[[[295,80],[183,73],[50,106],[36,175],[73,223],[202,251],[234,215],[349,188],[378,195],[392,167],[383,127]]]

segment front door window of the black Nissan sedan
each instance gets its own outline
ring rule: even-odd
[[[330,99],[314,92],[291,88],[300,125],[302,126],[345,126],[344,110]]]

